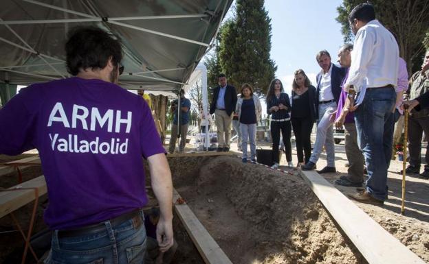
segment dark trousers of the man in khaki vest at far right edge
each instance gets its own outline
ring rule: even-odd
[[[423,131],[426,135],[429,134],[429,117],[414,118],[410,117],[408,119],[408,150],[410,152],[410,165],[420,167],[421,163],[421,136]],[[425,155],[425,169],[428,168],[429,164],[429,145],[426,146],[426,155]]]

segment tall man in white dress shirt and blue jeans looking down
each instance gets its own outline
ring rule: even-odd
[[[382,205],[387,199],[399,49],[391,32],[375,19],[373,5],[356,6],[349,14],[349,23],[355,44],[344,89],[349,92],[347,107],[355,110],[358,144],[369,176],[365,190],[350,197]],[[352,91],[358,94],[357,99]]]

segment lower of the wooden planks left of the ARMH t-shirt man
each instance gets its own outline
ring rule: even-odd
[[[39,197],[44,195],[47,191],[45,176],[39,176],[27,182],[23,182],[15,187],[9,189],[20,189],[20,188],[38,188]],[[34,190],[19,190],[19,191],[1,191],[0,192],[0,218],[8,215],[18,208],[25,206],[34,201]]]

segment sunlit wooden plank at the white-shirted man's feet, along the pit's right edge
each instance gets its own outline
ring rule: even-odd
[[[425,263],[316,171],[301,175],[368,263]]]

